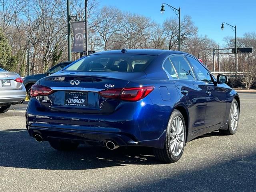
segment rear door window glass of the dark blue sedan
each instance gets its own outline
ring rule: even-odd
[[[188,62],[182,55],[174,55],[170,57],[170,60],[176,69],[179,79],[183,80],[195,80],[192,69]]]

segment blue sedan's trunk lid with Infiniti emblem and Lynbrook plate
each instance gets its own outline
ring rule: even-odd
[[[120,101],[103,98],[98,92],[105,89],[121,89],[131,80],[145,77],[144,72],[62,72],[39,81],[40,85],[50,87],[54,93],[40,96],[38,99],[45,110],[109,114],[114,112]]]

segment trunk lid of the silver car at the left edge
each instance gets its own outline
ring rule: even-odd
[[[20,77],[18,74],[8,71],[0,72],[0,90],[19,89],[21,83],[16,82],[15,79]]]

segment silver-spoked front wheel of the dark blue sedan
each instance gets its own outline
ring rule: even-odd
[[[228,130],[219,130],[219,131],[227,135],[234,135],[237,131],[238,119],[239,119],[238,103],[234,99],[232,101],[230,114],[229,114]]]

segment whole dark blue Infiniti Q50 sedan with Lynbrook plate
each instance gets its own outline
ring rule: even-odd
[[[148,146],[172,163],[197,136],[236,133],[240,99],[226,82],[184,52],[100,52],[32,86],[26,128],[56,150]]]

